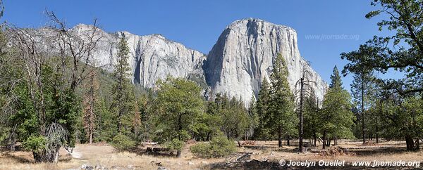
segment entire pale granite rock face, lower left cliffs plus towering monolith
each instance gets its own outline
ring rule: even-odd
[[[84,34],[91,29],[92,26],[80,24],[71,31]],[[47,38],[51,30],[42,28],[36,32],[37,37]],[[309,78],[317,82],[313,88],[319,100],[327,89],[319,74],[300,56],[295,30],[263,20],[249,18],[228,25],[207,57],[159,34],[138,36],[100,30],[99,36],[102,39],[92,54],[96,66],[113,70],[118,41],[125,37],[130,48],[130,79],[145,88],[154,87],[157,80],[168,75],[183,77],[199,83],[207,98],[226,93],[231,98],[241,98],[247,106],[257,97],[262,80],[269,80],[276,55],[281,53],[288,66],[292,90],[304,69],[311,72]]]

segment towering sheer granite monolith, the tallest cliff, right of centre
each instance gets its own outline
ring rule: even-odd
[[[312,73],[310,80],[317,82],[313,88],[321,101],[327,85],[301,57],[295,30],[253,18],[226,27],[209,52],[203,69],[211,96],[226,93],[248,105],[252,97],[257,98],[262,80],[269,82],[278,53],[286,60],[290,89],[295,89],[302,70],[308,70]]]

